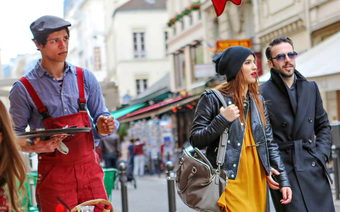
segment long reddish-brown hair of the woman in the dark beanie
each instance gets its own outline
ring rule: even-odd
[[[260,112],[262,122],[264,126],[266,126],[266,118],[263,110],[263,102],[261,103],[258,98],[258,78],[256,77],[256,81],[253,84],[248,84],[248,91],[251,93],[251,95],[254,98],[254,101],[256,103],[256,106]],[[222,92],[224,96],[232,97],[234,100],[234,104],[238,107],[240,110],[240,120],[245,124],[244,119],[244,109],[243,109],[243,86],[245,84],[245,77],[243,74],[243,69],[241,67],[240,71],[236,75],[235,79],[224,82],[219,85],[216,85],[212,89],[217,89]]]

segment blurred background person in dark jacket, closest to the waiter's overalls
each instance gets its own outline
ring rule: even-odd
[[[106,168],[118,168],[119,157],[121,157],[120,139],[117,133],[104,138],[100,142],[103,159]]]

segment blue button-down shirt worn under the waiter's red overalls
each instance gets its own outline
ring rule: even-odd
[[[27,73],[24,77],[33,86],[40,100],[48,108],[52,118],[66,116],[78,113],[79,90],[77,83],[77,72],[75,66],[65,62],[65,72],[63,86],[60,87],[54,76],[50,76],[37,61],[34,69]],[[99,83],[95,75],[87,69],[83,69],[84,92],[86,105],[85,108],[89,112],[89,120],[92,126],[97,124],[99,116],[110,116],[104,105],[103,95]],[[12,116],[15,132],[25,132],[27,125],[31,129],[45,128],[43,116],[33,102],[30,94],[20,81],[16,81],[10,92],[10,115]],[[92,121],[91,117],[94,121]],[[119,122],[116,122],[116,129],[119,128]],[[97,128],[92,129],[95,145],[99,140],[106,136],[98,134]]]

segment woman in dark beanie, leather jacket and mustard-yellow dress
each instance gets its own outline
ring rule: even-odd
[[[215,94],[206,90],[195,112],[190,143],[199,149],[207,148],[206,157],[217,168],[219,138],[228,129],[222,169],[229,180],[217,204],[222,212],[263,212],[267,183],[282,191],[282,204],[289,203],[292,192],[287,173],[273,140],[266,105],[257,92],[254,53],[233,46],[212,61],[216,72],[227,78],[214,89],[221,91],[228,107],[223,108]]]

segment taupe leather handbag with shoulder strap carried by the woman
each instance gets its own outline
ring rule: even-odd
[[[226,108],[225,100],[218,90],[212,90],[223,107]],[[228,174],[220,167],[224,162],[228,129],[225,129],[220,137],[217,153],[217,169],[213,169],[209,160],[202,152],[194,148],[194,155],[186,149],[176,171],[176,177],[168,177],[168,180],[176,181],[177,193],[182,201],[195,211],[221,212],[217,201],[228,184]]]

